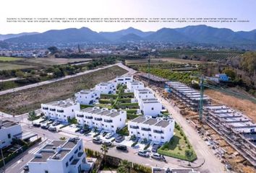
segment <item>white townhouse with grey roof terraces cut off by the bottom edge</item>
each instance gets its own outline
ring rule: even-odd
[[[46,143],[27,165],[30,173],[80,173],[90,170],[80,138]]]

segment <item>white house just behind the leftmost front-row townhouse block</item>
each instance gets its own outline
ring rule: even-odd
[[[91,105],[100,98],[100,91],[94,89],[84,89],[74,94],[75,99],[80,105]]]

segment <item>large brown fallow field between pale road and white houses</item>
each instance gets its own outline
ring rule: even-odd
[[[109,81],[125,73],[127,71],[123,68],[113,66],[52,84],[24,89],[12,94],[4,94],[0,96],[0,111],[7,112],[11,115],[20,115],[40,108],[40,103],[67,99],[81,89],[93,88],[95,84],[101,81]]]

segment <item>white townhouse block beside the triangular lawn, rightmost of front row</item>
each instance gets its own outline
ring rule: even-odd
[[[174,136],[174,120],[160,117],[136,117],[128,123],[129,136],[146,138],[155,143],[165,143]]]

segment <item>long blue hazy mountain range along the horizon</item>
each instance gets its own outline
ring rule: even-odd
[[[195,25],[182,28],[162,28],[143,32],[133,27],[116,32],[95,32],[88,27],[48,30],[46,32],[0,35],[7,43],[125,43],[156,41],[164,43],[207,43],[217,45],[256,45],[256,30],[239,31]]]

